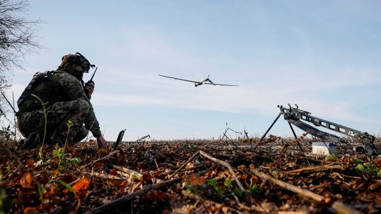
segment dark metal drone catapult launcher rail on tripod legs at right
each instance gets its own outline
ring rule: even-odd
[[[281,105],[278,105],[278,108],[280,109],[279,115],[275,118],[273,124],[269,127],[269,129],[266,131],[266,133],[261,137],[260,141],[263,140],[263,138],[267,135],[267,133],[270,131],[270,129],[274,126],[276,120],[283,115],[284,119],[287,120],[288,124],[290,125],[290,128],[295,136],[297,138],[295,131],[291,124],[295,125],[299,129],[307,132],[308,134],[318,137],[322,140],[335,142],[335,143],[348,143],[348,140],[343,137],[335,136],[323,131],[318,130],[317,128],[307,124],[312,123],[315,126],[321,126],[323,128],[338,132],[340,134],[343,134],[345,136],[350,136],[355,139],[357,139],[359,142],[362,143],[362,148],[366,155],[368,156],[374,156],[374,155],[381,155],[381,150],[378,150],[376,146],[373,144],[375,137],[372,135],[369,135],[366,132],[360,132],[355,129],[348,128],[346,126],[339,125],[337,123],[330,122],[325,119],[321,119],[318,117],[311,116],[310,112],[304,111],[299,109],[299,107],[295,104],[296,108],[291,107],[290,104],[288,104],[289,108],[285,108]],[[305,122],[304,122],[305,121]],[[303,151],[303,148],[301,147],[300,143],[298,142],[299,148],[301,151]],[[362,149],[361,148],[361,149]],[[358,149],[358,148],[356,148]],[[356,150],[358,151],[358,150]]]

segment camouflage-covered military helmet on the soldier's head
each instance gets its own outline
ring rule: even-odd
[[[82,77],[84,73],[88,73],[90,67],[95,65],[90,62],[80,53],[68,54],[62,57],[61,65],[58,66],[59,70],[63,70],[75,77]]]

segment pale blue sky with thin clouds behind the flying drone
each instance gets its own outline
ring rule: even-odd
[[[44,46],[13,72],[19,97],[68,53],[98,66],[91,102],[113,141],[262,134],[276,105],[381,132],[380,1],[31,1]],[[239,87],[203,85],[158,74]],[[85,75],[85,80],[91,74]],[[302,132],[297,130],[299,134]],[[290,136],[282,119],[272,134]]]

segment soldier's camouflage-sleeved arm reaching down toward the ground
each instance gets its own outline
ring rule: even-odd
[[[74,76],[67,73],[56,74],[56,81],[61,85],[64,93],[71,99],[84,99],[88,102],[90,108],[88,110],[87,116],[85,118],[85,128],[90,130],[94,137],[102,136],[99,122],[95,117],[93,106],[90,100],[85,94],[85,91],[81,85],[81,82]]]

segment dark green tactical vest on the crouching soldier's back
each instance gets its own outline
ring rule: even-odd
[[[23,112],[42,109],[42,103],[37,97],[42,100],[45,107],[57,101],[65,101],[65,96],[60,91],[61,86],[53,77],[54,74],[62,72],[64,71],[37,72],[17,101],[19,112],[17,112],[16,116]],[[32,94],[37,97],[32,96]]]

